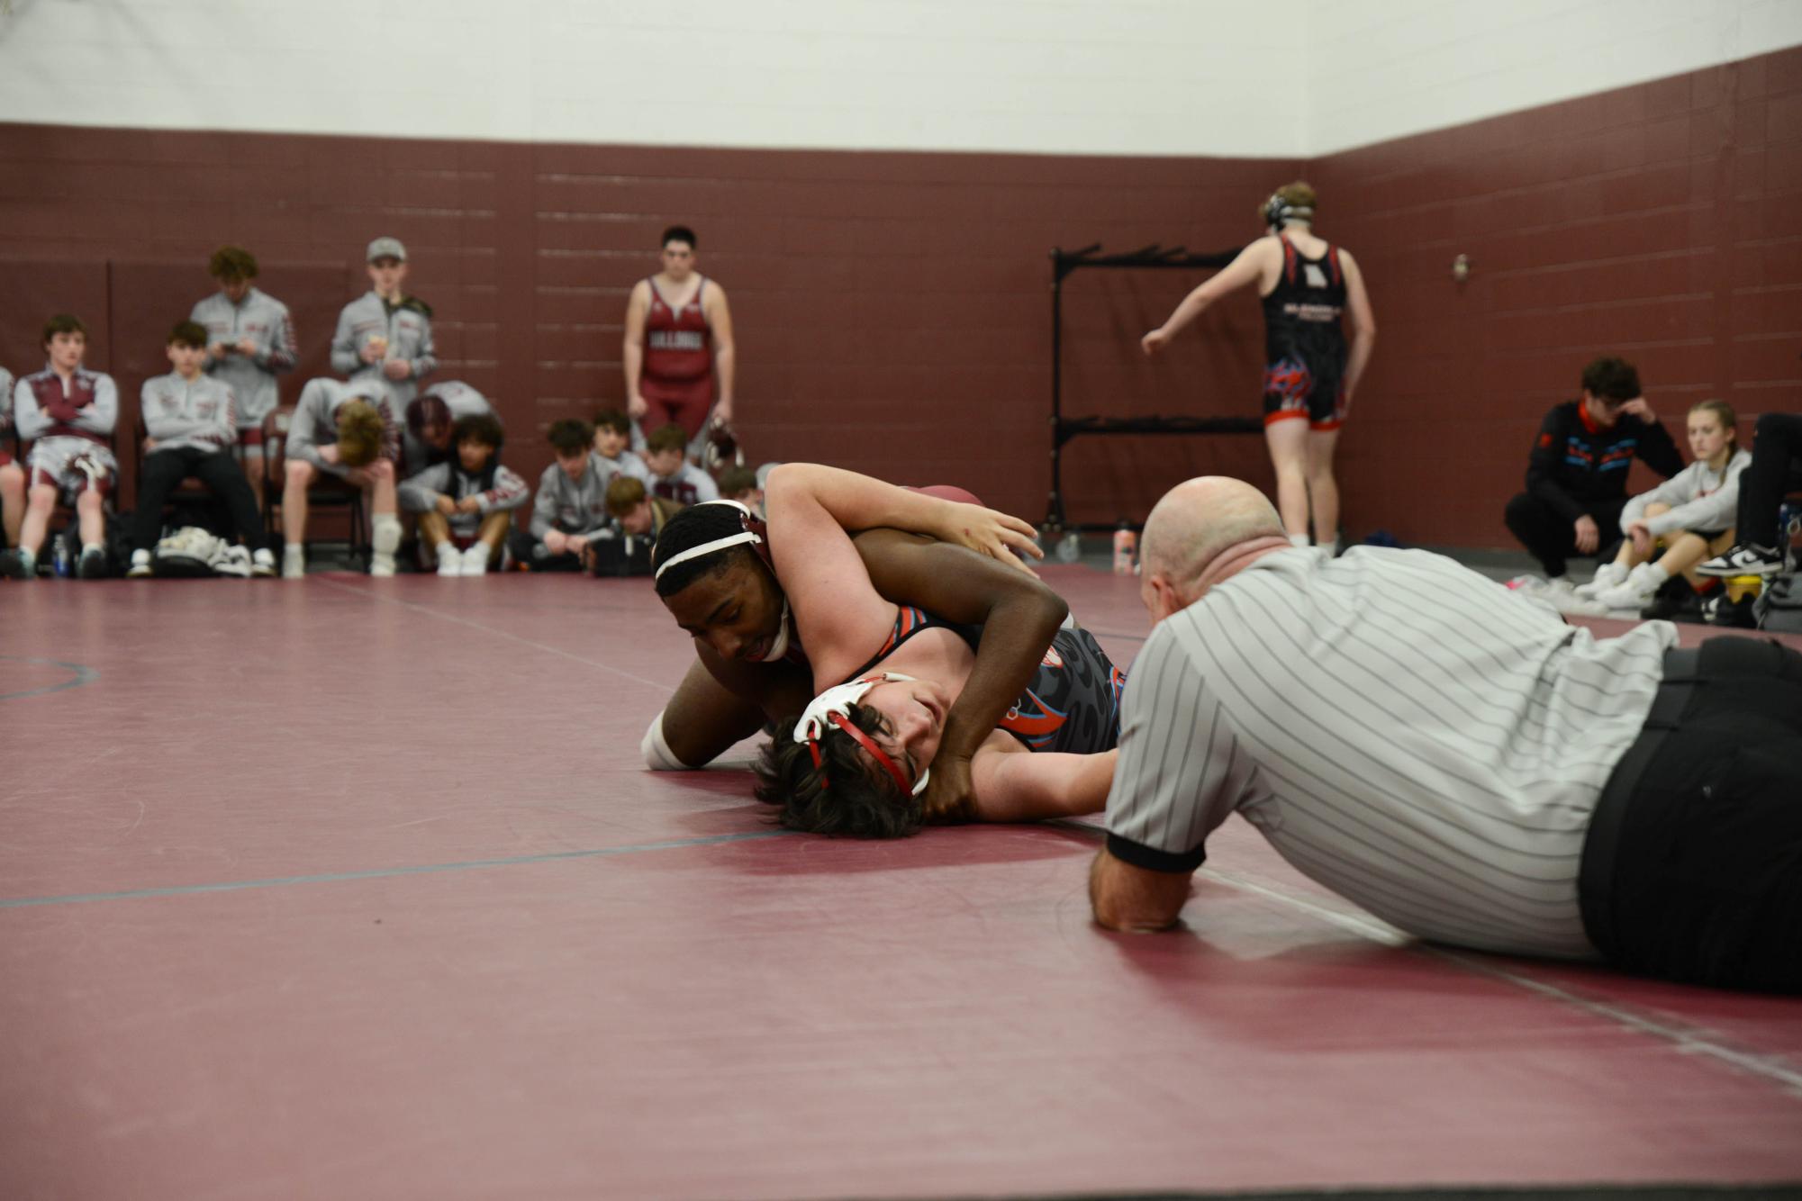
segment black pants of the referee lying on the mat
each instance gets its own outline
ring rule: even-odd
[[[1580,893],[1624,971],[1802,992],[1802,654],[1714,637],[1665,655],[1589,821]]]

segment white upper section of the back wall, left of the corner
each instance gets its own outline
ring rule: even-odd
[[[0,119],[1294,157],[1285,43],[1227,0],[13,0]]]

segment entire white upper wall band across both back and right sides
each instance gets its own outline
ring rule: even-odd
[[[0,119],[1312,157],[1802,43],[1802,0],[11,0]]]

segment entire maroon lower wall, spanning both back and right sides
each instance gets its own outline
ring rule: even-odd
[[[207,254],[241,241],[299,315],[292,400],[362,290],[362,245],[396,234],[438,310],[440,378],[499,400],[510,461],[535,475],[546,423],[620,402],[625,293],[661,227],[687,221],[732,295],[753,459],[955,481],[1036,520],[1049,250],[1227,248],[1299,173],[1380,326],[1341,441],[1353,535],[1505,546],[1539,416],[1597,353],[1636,360],[1672,429],[1703,396],[1802,407],[1802,50],[1310,164],[0,124],[0,362],[36,369],[43,315],[74,308],[133,411],[162,333],[211,286]],[[1254,412],[1249,293],[1155,364],[1137,353],[1200,277],[1072,275],[1065,412]],[[1142,517],[1198,472],[1270,483],[1254,438],[1079,439],[1065,472],[1076,520]]]

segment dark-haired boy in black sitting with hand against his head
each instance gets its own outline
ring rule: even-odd
[[[1640,373],[1620,358],[1597,358],[1582,369],[1582,396],[1539,425],[1526,492],[1506,508],[1508,529],[1544,567],[1553,605],[1575,591],[1566,560],[1613,544],[1602,531],[1620,524],[1634,456],[1665,479],[1683,470],[1676,443],[1640,394]]]

